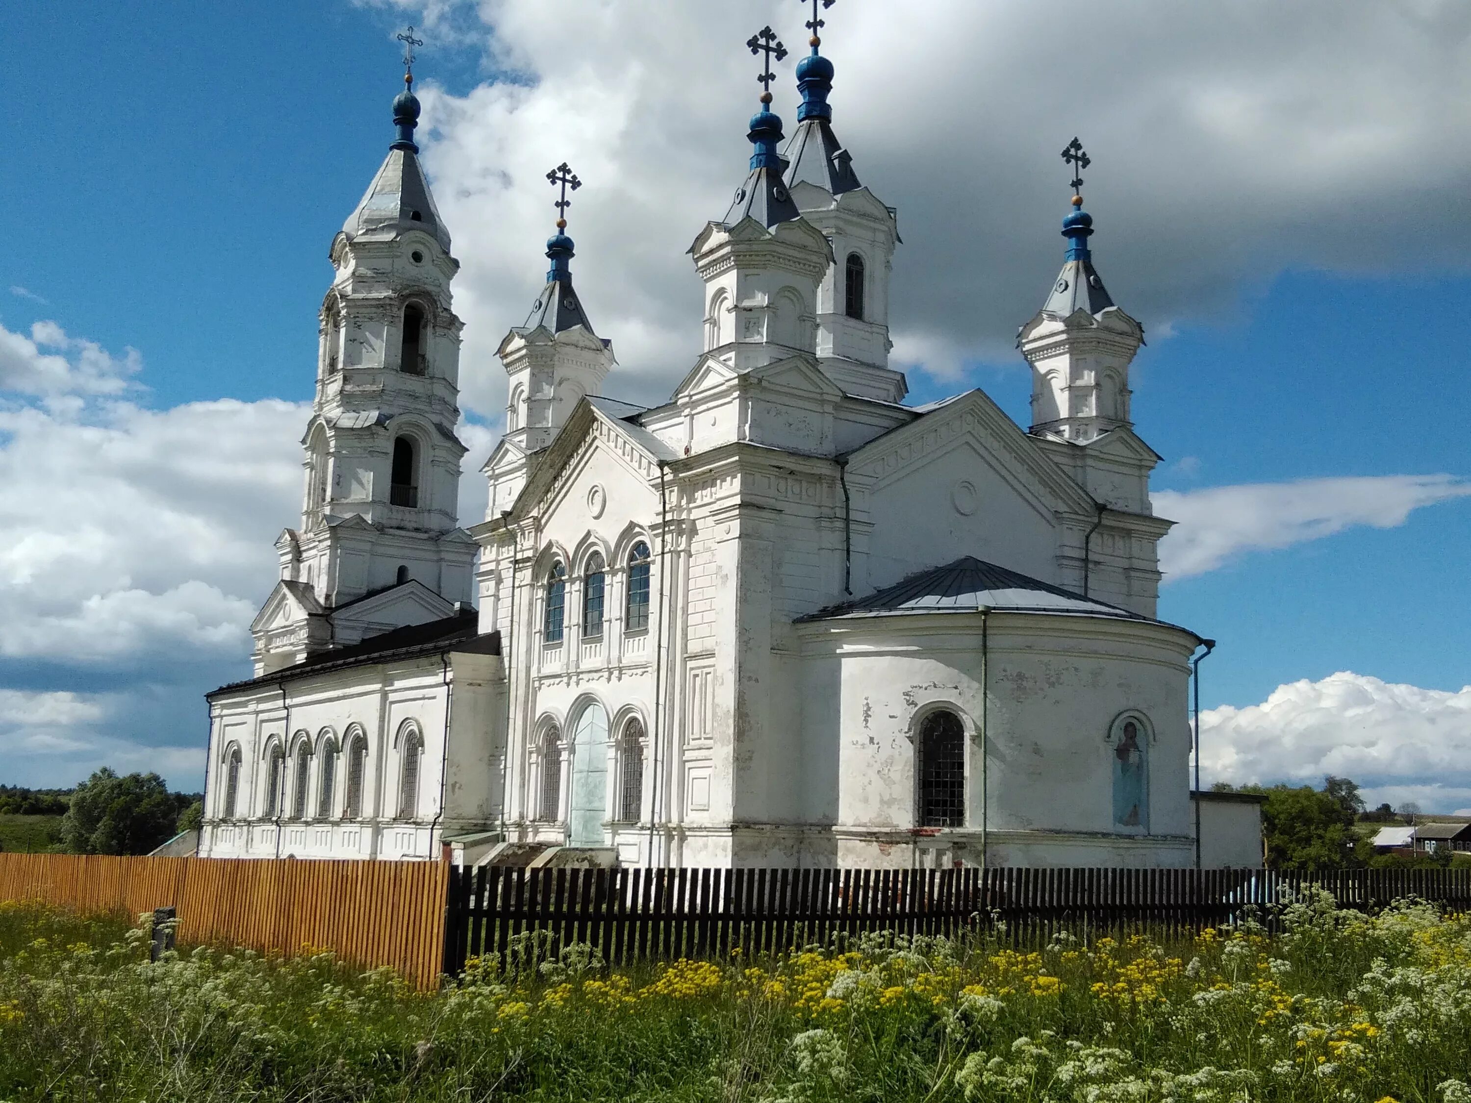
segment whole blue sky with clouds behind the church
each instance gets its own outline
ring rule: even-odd
[[[1089,12],[1071,0],[1050,6],[1056,18]],[[562,159],[559,150],[571,150],[575,168],[587,165],[590,187],[571,218],[583,297],[619,349],[624,376],[608,390],[643,400],[668,391],[699,337],[697,284],[681,250],[705,218],[719,215],[744,171],[744,116],[755,97],[734,28],[771,21],[796,41],[800,19],[794,3],[775,0],[708,19],[634,7],[622,22],[630,41],[616,51],[608,26],[618,16],[591,1],[583,4],[587,18],[562,31],[543,26],[522,0],[438,3],[428,13],[337,0],[160,4],[146,21],[138,9],[82,3],[9,13],[12,146],[0,196],[13,228],[0,251],[0,326],[32,343],[13,356],[51,349],[78,371],[100,356],[110,366],[99,371],[116,384],[3,390],[0,353],[0,413],[10,418],[0,421],[4,469],[40,485],[46,479],[34,476],[53,463],[47,456],[62,456],[46,449],[56,447],[68,450],[56,471],[71,472],[53,472],[46,516],[24,501],[7,513],[0,491],[0,521],[13,525],[9,547],[0,537],[0,596],[9,590],[0,612],[19,610],[9,644],[0,625],[0,781],[69,784],[112,756],[197,784],[200,694],[244,675],[241,610],[274,579],[275,531],[294,524],[304,416],[269,400],[310,396],[327,247],[390,140],[387,103],[400,72],[393,32],[405,22],[428,26],[418,66],[422,137],[465,263],[457,304],[468,322],[466,413],[482,426],[477,446],[488,447],[503,397],[488,353],[540,281],[552,218],[540,174]],[[1467,24],[1437,4],[1425,7],[1440,21],[1428,28],[1342,21],[1333,49],[1372,59],[1359,90],[1342,93],[1336,62],[1309,44],[1305,56],[1283,56],[1271,25],[1222,32],[1209,22],[1215,16],[1165,19],[1162,10],[1127,4],[1119,26],[1099,32],[1087,62],[1097,103],[1086,109],[1039,91],[1056,76],[1046,72],[966,71],[958,84],[994,82],[927,88],[928,76],[909,74],[959,69],[944,65],[949,47],[930,43],[909,16],[886,34],[874,3],[850,0],[830,13],[834,122],[865,182],[900,209],[906,246],[894,266],[893,325],[911,397],[980,385],[1025,425],[1030,381],[1011,334],[1061,265],[1056,228],[1068,193],[1056,150],[1086,131],[1094,259],[1115,300],[1149,328],[1131,385],[1136,425],[1165,456],[1155,487],[1172,491],[1164,500],[1224,549],[1211,569],[1169,581],[1161,603],[1167,619],[1221,643],[1205,668],[1206,706],[1259,707],[1278,687],[1317,687],[1334,672],[1368,679],[1356,685],[1374,699],[1346,719],[1314,688],[1292,713],[1292,731],[1317,725],[1296,757],[1268,753],[1289,729],[1264,712],[1219,713],[1222,738],[1237,725],[1240,746],[1259,752],[1255,765],[1239,756],[1234,774],[1222,765],[1222,775],[1312,777],[1339,760],[1334,724],[1368,725],[1377,732],[1372,753],[1349,759],[1367,784],[1395,800],[1471,804],[1465,757],[1415,777],[1383,765],[1396,738],[1424,738],[1425,724],[1471,747],[1471,696],[1465,707],[1459,697],[1434,697],[1471,684],[1471,497],[1461,487],[1471,476],[1471,268],[1465,154],[1456,151],[1471,143],[1468,115],[1445,109],[1468,68],[1455,81],[1445,75],[1468,56]],[[958,4],[953,18],[974,19],[969,38],[956,34],[997,69],[997,59],[1025,54],[1046,34],[1003,6]],[[1219,49],[1202,44],[1217,38]],[[1211,96],[1177,118],[1162,90],[1180,79],[1175,65],[1189,68],[1189,57],[1171,60],[1181,41],[1187,54],[1206,51],[1189,79]],[[696,56],[709,60],[675,100],[659,69],[687,68]],[[1289,68],[1292,84],[1264,91]],[[897,74],[883,93],[875,85],[890,78],[881,74]],[[1372,99],[1368,110],[1349,103],[1343,115],[1318,106],[1336,94]],[[790,116],[790,90],[783,97],[775,106]],[[1431,113],[1437,140],[1405,122]],[[1374,128],[1364,125],[1367,115]],[[1299,153],[1300,166],[1283,168]],[[46,344],[37,332],[50,331],[37,324],[54,324],[65,338]],[[209,407],[221,399],[240,404]],[[144,440],[175,422],[188,425],[175,443]],[[229,435],[247,424],[260,426],[257,438]],[[119,449],[134,449],[124,451],[137,466],[88,435],[99,426],[116,434]],[[209,454],[210,440],[218,454]],[[209,459],[207,475],[196,471],[204,457],[196,447]],[[146,462],[137,459],[144,453]],[[249,471],[257,454],[278,465],[265,476],[269,493]],[[116,485],[68,497],[109,463],[103,474]],[[1403,485],[1378,482],[1431,475],[1449,482],[1409,499]],[[1277,499],[1265,491],[1242,497],[1243,509],[1258,510],[1242,524],[1284,534],[1280,549],[1258,547],[1271,537],[1233,535],[1233,518],[1212,516],[1221,499],[1205,496],[1352,478],[1365,482],[1321,484],[1342,501],[1318,519],[1300,504],[1271,504]],[[121,552],[99,537],[91,566],[78,552],[68,568],[71,597],[50,602],[37,549],[76,543],[88,510],[124,491],[137,491],[137,509],[99,528],[115,535],[135,525],[141,535]],[[1377,494],[1383,506],[1372,504]],[[235,496],[249,524],[210,496]],[[1359,497],[1371,504],[1359,509]],[[177,515],[172,526],[150,521],[159,503]],[[1274,509],[1283,516],[1268,516]],[[169,535],[150,543],[150,525]],[[234,550],[210,550],[210,525],[229,528]],[[1309,529],[1328,534],[1309,538]],[[141,566],[113,569],[129,556]],[[85,582],[93,569],[96,593]],[[178,584],[203,588],[150,604],[172,593],[169,571]],[[109,610],[101,619],[99,600]],[[99,643],[109,631],[118,632],[115,647]],[[1420,693],[1406,706],[1415,715],[1386,718],[1384,702],[1405,694],[1380,693],[1372,679]],[[1396,728],[1402,721],[1409,727]],[[1436,796],[1436,784],[1467,797]]]

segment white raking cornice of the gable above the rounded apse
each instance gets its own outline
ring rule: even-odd
[[[1027,434],[980,390],[968,391],[856,449],[849,454],[849,476],[868,476],[878,490],[966,446],[1039,509],[1078,513],[1096,509],[1087,491],[1033,447]]]

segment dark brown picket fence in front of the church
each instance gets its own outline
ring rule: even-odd
[[[484,953],[505,960],[528,934],[543,953],[584,943],[618,963],[775,953],[866,931],[1027,941],[1056,929],[1196,929],[1249,909],[1272,925],[1309,884],[1361,910],[1411,896],[1471,906],[1464,869],[452,869],[444,971]]]

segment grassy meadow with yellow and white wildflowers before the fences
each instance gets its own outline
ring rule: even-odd
[[[0,903],[0,1100],[1471,1103],[1471,919],[1306,899],[1286,932],[1014,949],[869,937],[416,994]]]

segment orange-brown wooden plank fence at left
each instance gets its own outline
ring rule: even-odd
[[[0,853],[0,900],[129,918],[174,907],[181,943],[287,956],[321,947],[419,988],[438,982],[447,887],[441,862]]]

